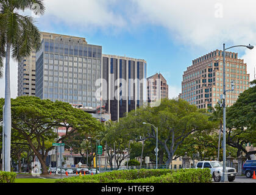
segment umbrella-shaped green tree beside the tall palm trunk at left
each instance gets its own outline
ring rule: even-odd
[[[0,106],[2,107],[3,104],[4,99],[0,99]],[[0,118],[2,118],[1,114]],[[12,99],[12,127],[35,152],[43,174],[48,174],[46,157],[55,147],[52,146],[56,137],[54,128],[65,129],[65,135],[58,138],[57,143],[63,142],[75,131],[90,134],[102,128],[99,121],[90,114],[73,108],[68,103],[41,100],[32,96]]]

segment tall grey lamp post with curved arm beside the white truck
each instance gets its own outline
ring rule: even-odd
[[[231,90],[226,90],[226,84],[225,84],[225,51],[227,49],[235,48],[235,47],[246,47],[248,49],[254,49],[254,46],[251,44],[249,45],[236,45],[232,46],[230,48],[225,48],[225,43],[223,44],[223,96],[221,97],[222,99],[222,104],[221,106],[223,107],[223,170],[222,170],[222,177],[221,177],[221,182],[229,182],[227,179],[227,174],[226,174],[226,92],[228,91],[233,91],[234,90],[234,83],[232,82],[231,85]]]

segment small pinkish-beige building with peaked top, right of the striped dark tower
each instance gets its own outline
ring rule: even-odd
[[[168,99],[168,85],[161,73],[154,74],[147,78],[148,102],[155,102],[159,99]]]

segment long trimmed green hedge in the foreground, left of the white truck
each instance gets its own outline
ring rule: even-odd
[[[58,183],[209,183],[210,169],[138,169],[104,172],[93,176],[69,177]]]

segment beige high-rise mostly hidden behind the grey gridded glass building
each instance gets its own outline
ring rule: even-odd
[[[73,37],[69,35],[53,34],[49,32],[40,32],[41,40],[43,38],[55,40],[56,38],[72,38],[80,40],[84,43],[85,38]],[[30,56],[23,57],[18,62],[18,96],[35,96],[35,49],[32,50]]]

